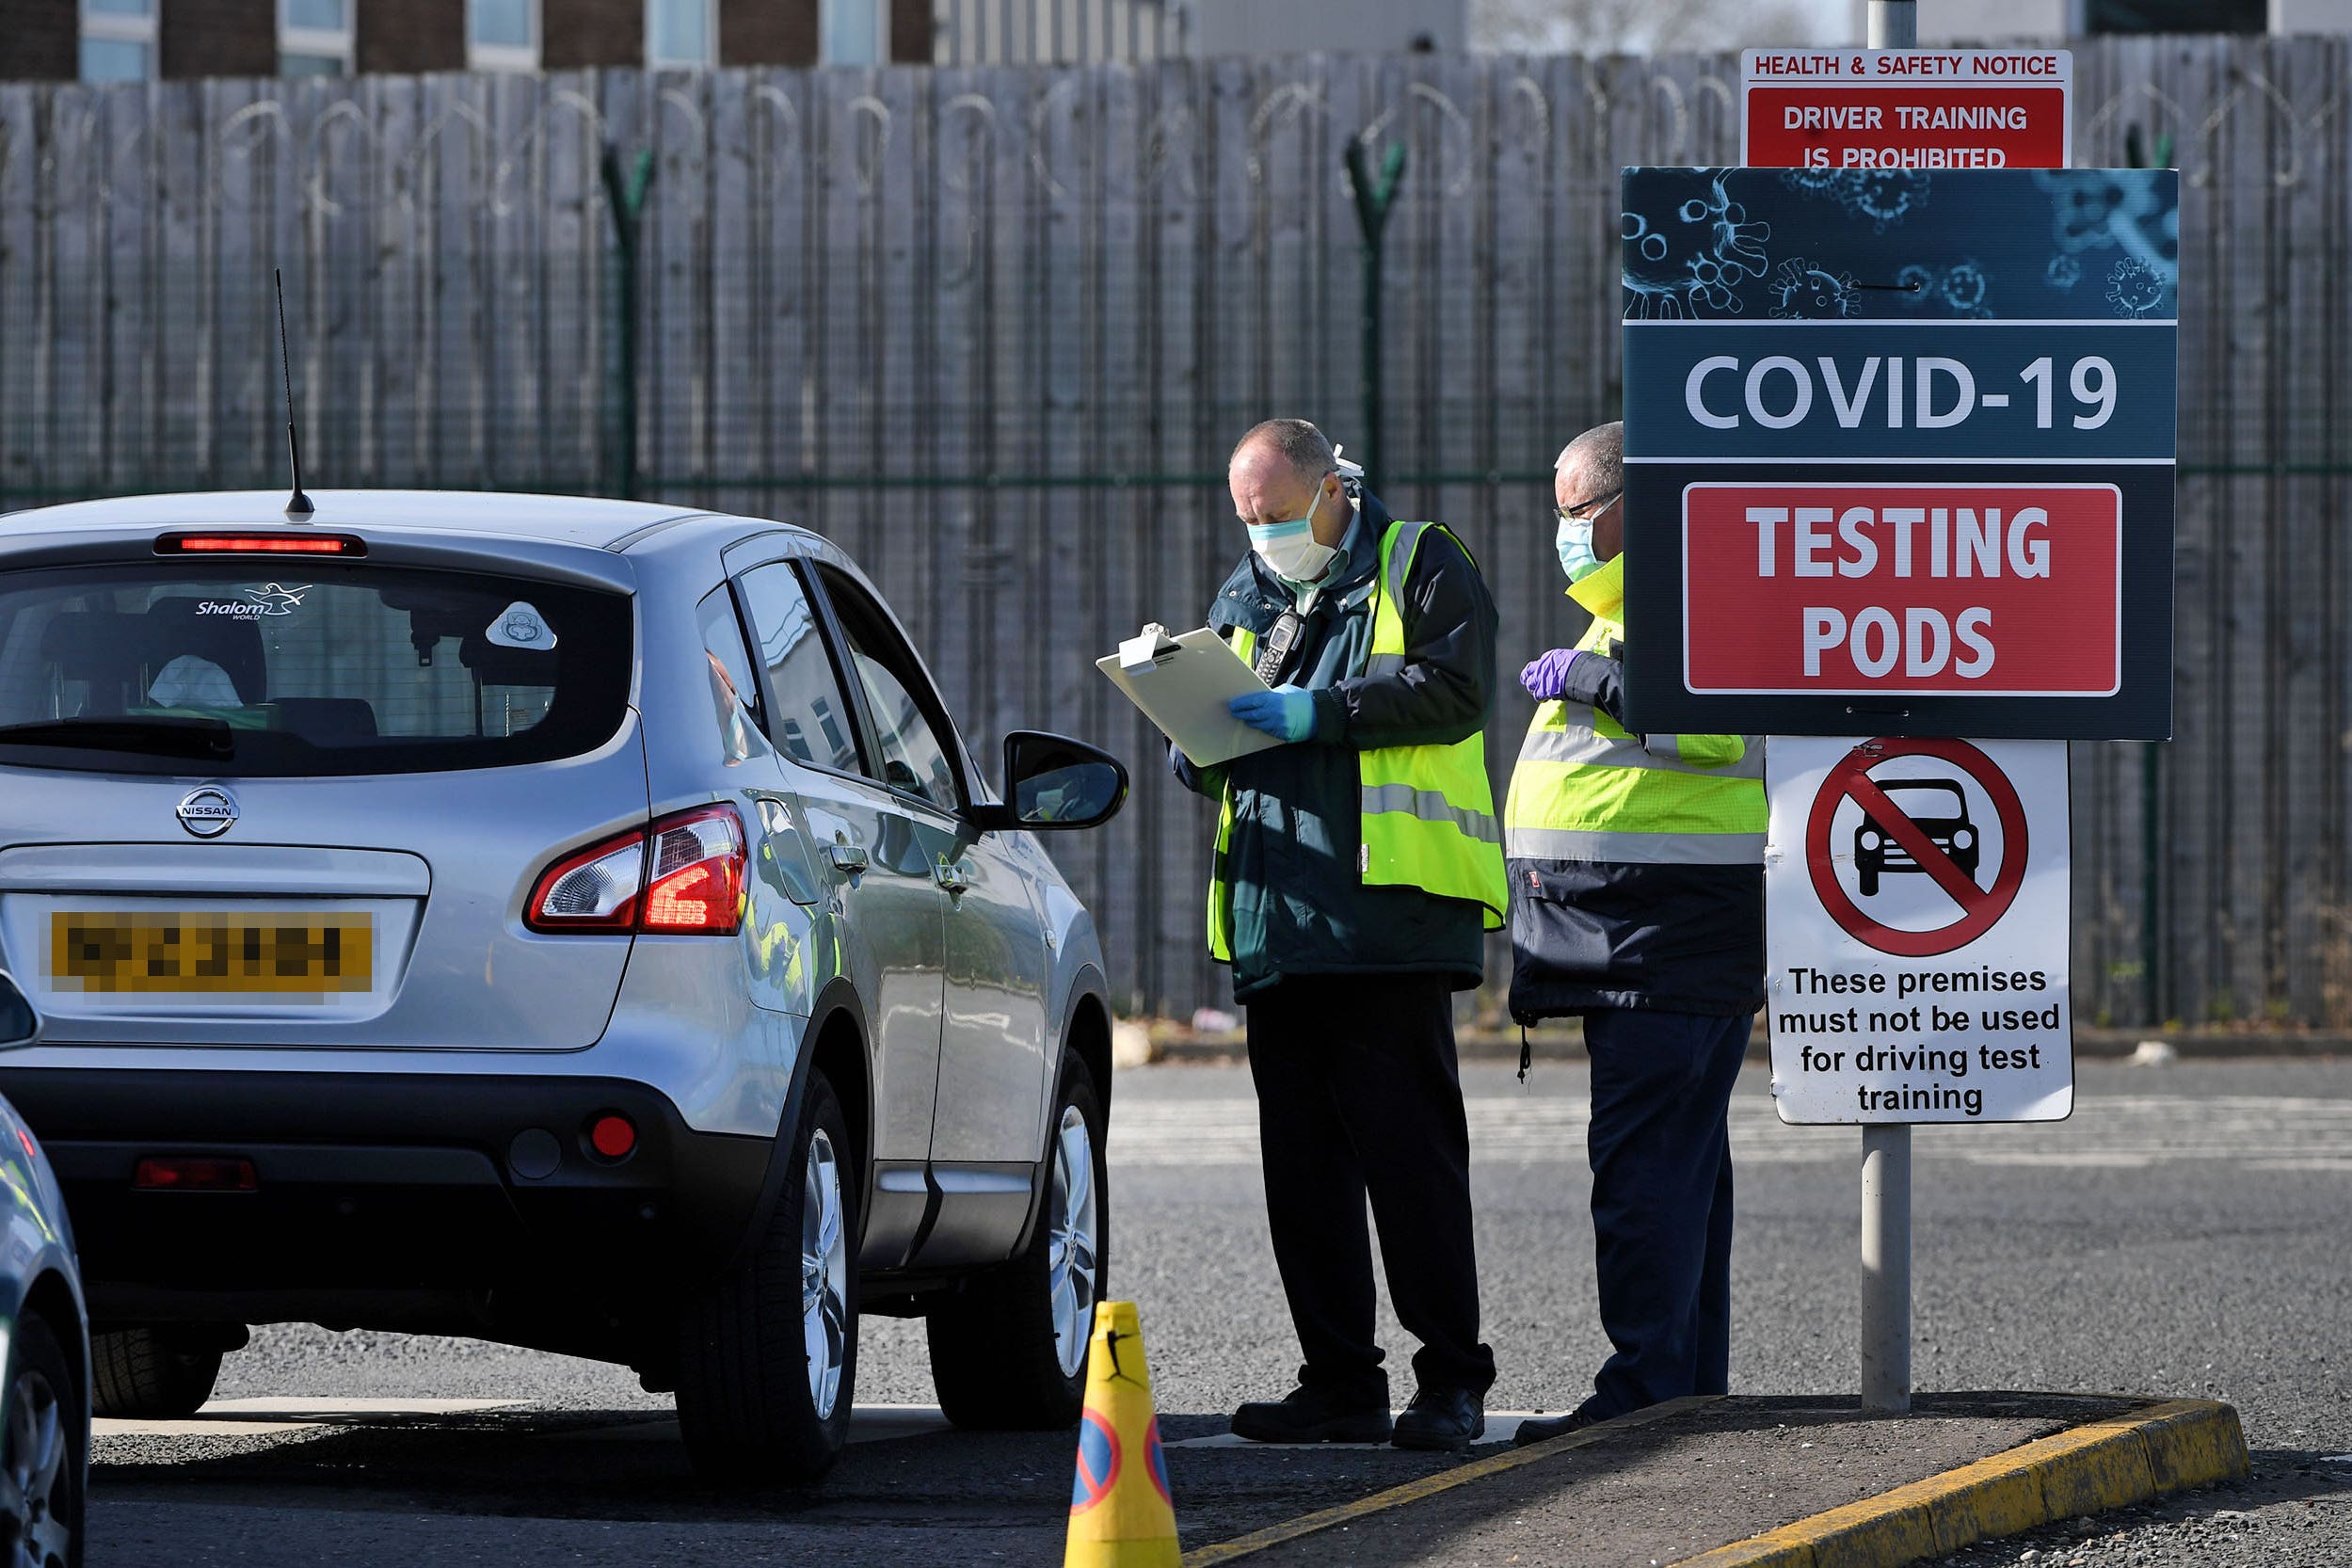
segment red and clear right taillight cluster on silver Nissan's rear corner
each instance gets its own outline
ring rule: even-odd
[[[734,936],[743,924],[743,820],[734,806],[666,816],[539,875],[532,931]]]

